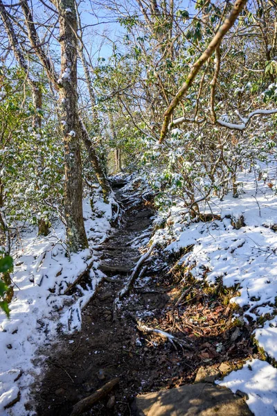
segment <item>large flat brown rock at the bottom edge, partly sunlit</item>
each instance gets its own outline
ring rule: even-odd
[[[210,383],[136,397],[133,410],[136,416],[253,416],[241,397]]]

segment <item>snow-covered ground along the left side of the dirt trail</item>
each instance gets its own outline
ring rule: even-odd
[[[12,280],[15,295],[10,304],[10,319],[0,312],[0,415],[31,415],[24,404],[28,401],[30,384],[39,374],[36,351],[53,343],[57,329],[74,331],[80,327],[81,309],[93,295],[102,272],[98,270],[93,246],[101,243],[111,228],[111,204],[100,195],[83,202],[84,225],[90,249],[65,257],[64,226],[57,225],[50,236],[37,237],[35,231],[24,232],[20,245],[12,252],[15,268]],[[91,286],[81,297],[62,295],[81,272],[93,263]],[[19,397],[20,395],[20,397]],[[6,408],[13,400],[19,401]]]

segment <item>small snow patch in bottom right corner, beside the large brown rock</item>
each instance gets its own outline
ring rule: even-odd
[[[266,361],[247,361],[242,370],[231,372],[219,385],[248,395],[247,405],[255,416],[276,416],[277,370]]]

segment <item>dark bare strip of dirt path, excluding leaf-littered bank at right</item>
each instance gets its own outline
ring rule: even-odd
[[[116,190],[119,200],[129,200]],[[82,316],[82,331],[63,336],[62,351],[49,357],[48,370],[39,392],[37,415],[67,416],[76,401],[100,388],[114,376],[120,376],[118,412],[129,414],[129,397],[140,390],[137,372],[144,372],[141,354],[132,354],[129,344],[136,345],[137,334],[132,325],[119,313],[112,319],[113,302],[122,288],[127,273],[141,257],[139,246],[151,234],[153,213],[149,207],[139,205],[127,209],[123,225],[115,229],[100,252],[102,269],[109,281],[102,284],[96,298]],[[131,347],[132,349],[132,347]],[[145,377],[147,377],[147,372]],[[125,392],[126,390],[126,392]],[[125,394],[126,393],[126,394]],[[107,401],[107,399],[105,400]],[[111,409],[98,404],[93,415],[114,415]]]

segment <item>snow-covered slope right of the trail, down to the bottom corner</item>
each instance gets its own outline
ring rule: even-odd
[[[263,180],[257,179],[257,171],[262,171]],[[209,202],[213,214],[220,215],[220,219],[187,225],[181,215],[186,209],[177,205],[172,207],[168,226],[157,230],[152,239],[166,245],[167,251],[178,252],[192,245],[180,263],[195,279],[206,279],[215,284],[220,278],[225,286],[238,288],[240,295],[233,297],[231,302],[244,306],[243,319],[265,318],[254,336],[271,363],[274,362],[272,358],[277,361],[276,178],[276,162],[260,164],[251,172],[244,171],[238,177],[242,182],[239,198],[233,198],[229,193],[222,201],[212,198]],[[211,214],[208,205],[202,207],[205,208]],[[244,225],[235,229],[232,223],[241,216]],[[233,391],[247,392],[247,403],[256,416],[276,415],[277,370],[259,360],[253,362],[251,369],[250,372],[246,365],[243,370],[232,372],[222,384]]]

